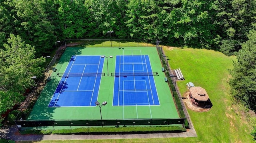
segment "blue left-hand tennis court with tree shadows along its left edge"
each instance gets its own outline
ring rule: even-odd
[[[95,106],[101,76],[82,74],[101,73],[103,64],[100,56],[72,56],[48,107]]]

